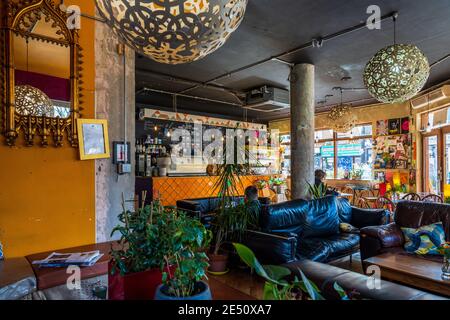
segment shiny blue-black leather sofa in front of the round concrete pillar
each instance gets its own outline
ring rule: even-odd
[[[340,232],[340,223],[378,226],[386,223],[388,215],[383,209],[352,207],[347,199],[335,196],[267,205],[260,215],[261,230],[248,231],[244,244],[264,264],[300,259],[329,262],[359,251],[359,232]]]

